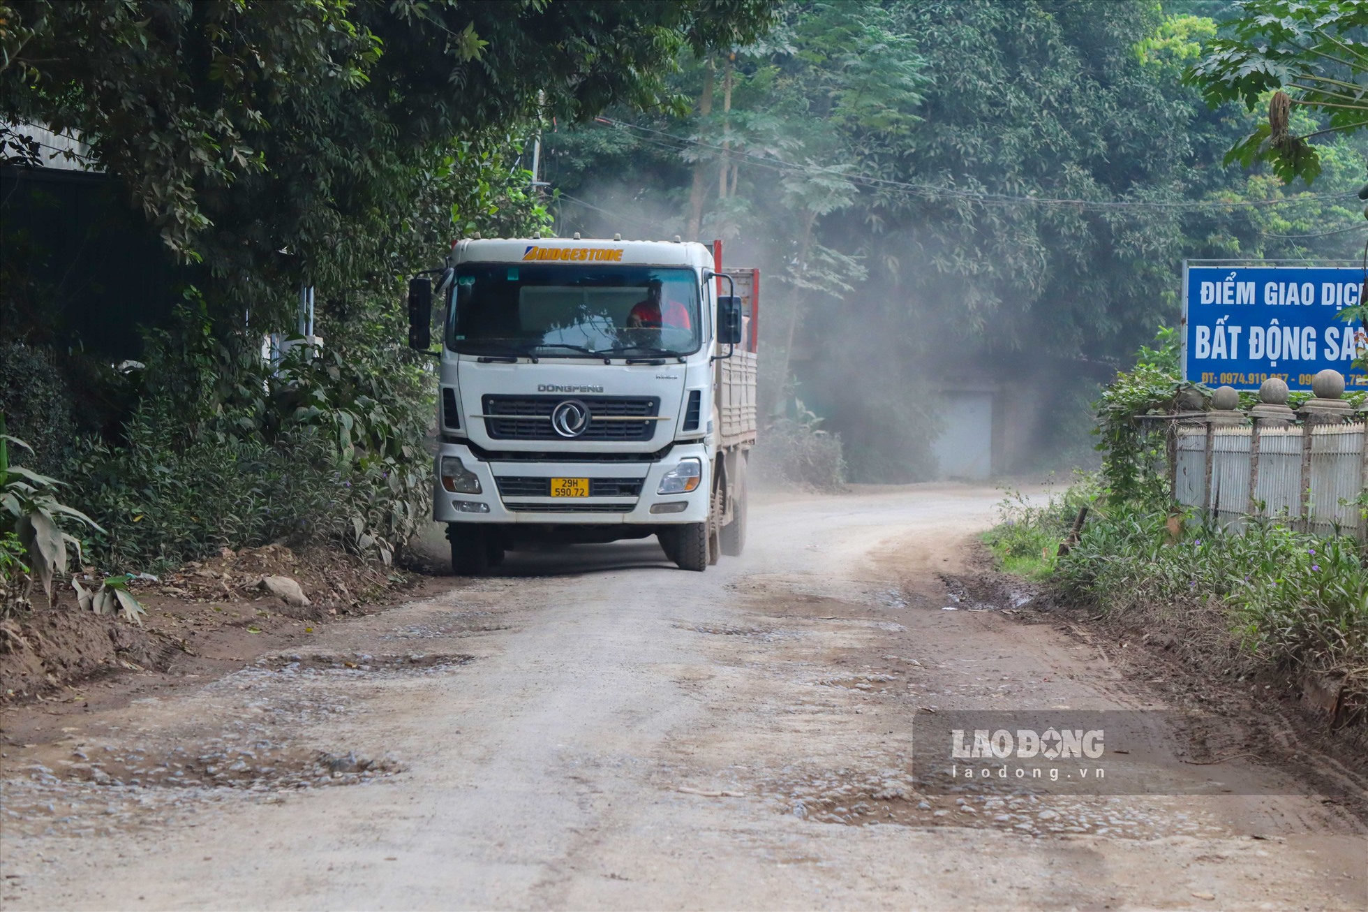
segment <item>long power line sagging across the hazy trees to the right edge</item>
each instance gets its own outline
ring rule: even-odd
[[[711,149],[720,152],[731,159],[740,159],[757,164],[759,167],[766,167],[774,171],[799,171],[806,174],[824,174],[834,178],[841,178],[850,181],[855,185],[867,186],[870,189],[885,189],[885,190],[903,190],[906,193],[921,196],[923,199],[952,199],[964,200],[971,203],[982,203],[989,205],[1067,205],[1074,208],[1085,210],[1238,210],[1238,208],[1261,208],[1268,205],[1291,205],[1295,203],[1311,203],[1323,200],[1343,200],[1353,196],[1353,190],[1346,190],[1343,193],[1319,193],[1319,194],[1302,194],[1297,197],[1279,199],[1279,200],[1242,200],[1231,203],[1218,203],[1209,200],[1085,200],[1085,199],[1067,199],[1067,197],[1044,197],[1044,196],[1012,196],[1007,193],[985,193],[979,190],[962,190],[958,188],[947,188],[936,183],[914,183],[907,181],[891,181],[886,178],[877,178],[863,174],[848,174],[841,168],[821,167],[821,166],[804,166],[795,164],[792,162],[782,162],[780,159],[762,157],[751,155],[750,152],[743,152],[739,149],[724,148],[720,145],[713,145],[710,142],[703,142],[702,140],[689,140],[685,137],[679,137],[665,130],[655,130],[651,127],[643,127],[635,123],[627,123],[625,121],[616,121],[613,118],[595,118],[599,123],[606,123],[613,127],[625,130],[639,130],[642,133],[650,133],[654,136],[665,137],[666,140],[680,144],[672,148],[673,151],[680,151],[683,147],[694,145],[705,149]],[[644,137],[643,137],[644,138]],[[657,145],[665,145],[661,141],[655,141]]]

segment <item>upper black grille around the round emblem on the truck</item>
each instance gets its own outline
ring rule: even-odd
[[[654,419],[661,409],[661,400],[657,396],[579,397],[579,401],[590,407],[590,423],[583,434],[573,438],[561,437],[551,429],[551,409],[565,398],[565,396],[486,396],[482,401],[484,427],[492,440],[643,441],[655,435]],[[637,416],[643,420],[618,420]]]

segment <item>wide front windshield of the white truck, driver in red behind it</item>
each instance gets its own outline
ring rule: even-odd
[[[465,355],[689,355],[699,349],[689,268],[466,263],[457,267],[446,345]]]

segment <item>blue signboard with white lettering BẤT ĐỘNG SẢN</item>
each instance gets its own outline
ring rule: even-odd
[[[1368,346],[1363,320],[1339,318],[1358,304],[1363,281],[1361,267],[1185,264],[1183,378],[1259,389],[1279,377],[1309,390],[1332,367],[1349,389],[1368,388],[1353,367]]]

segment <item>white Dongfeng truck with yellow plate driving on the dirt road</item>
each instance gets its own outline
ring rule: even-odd
[[[659,538],[684,570],[746,545],[758,270],[722,246],[461,240],[409,282],[409,345],[440,304],[432,519],[451,567],[538,541]]]

